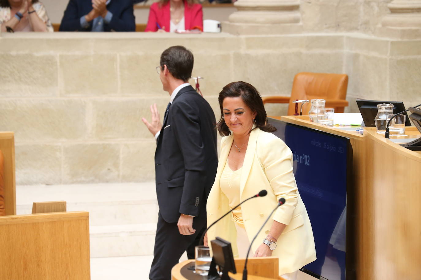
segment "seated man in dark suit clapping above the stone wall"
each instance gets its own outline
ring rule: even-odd
[[[135,31],[133,0],[70,0],[59,31]]]

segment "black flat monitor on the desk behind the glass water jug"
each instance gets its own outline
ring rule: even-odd
[[[376,127],[374,123],[374,119],[377,115],[377,105],[382,103],[392,103],[393,104],[393,114],[400,113],[405,111],[405,105],[403,105],[402,101],[381,101],[381,100],[365,100],[365,99],[357,99],[358,109],[360,109],[360,113],[362,116],[362,124],[361,126],[365,127]],[[405,126],[411,126],[411,122],[408,118],[406,113],[402,113],[405,115]]]

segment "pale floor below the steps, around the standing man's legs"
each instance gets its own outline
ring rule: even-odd
[[[147,280],[152,256],[125,256],[92,258],[91,280]],[[180,261],[187,259],[186,255]],[[315,280],[304,272],[298,272],[297,280]]]

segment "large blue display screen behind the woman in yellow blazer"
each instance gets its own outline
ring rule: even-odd
[[[346,191],[352,168],[349,138],[269,119],[293,152],[298,191],[312,224],[317,259],[304,271],[345,280]]]

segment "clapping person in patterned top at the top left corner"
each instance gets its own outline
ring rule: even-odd
[[[0,0],[0,30],[53,32],[53,26],[38,0]]]

